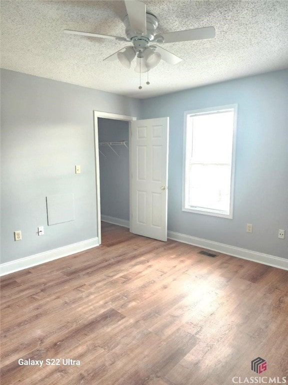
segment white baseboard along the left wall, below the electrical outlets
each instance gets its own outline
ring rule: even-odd
[[[0,276],[40,265],[41,263],[49,262],[54,259],[66,257],[67,255],[79,253],[80,251],[91,249],[96,246],[99,246],[98,238],[91,238],[86,241],[49,250],[44,253],[34,254],[29,257],[16,259],[15,261],[2,263],[0,265]]]

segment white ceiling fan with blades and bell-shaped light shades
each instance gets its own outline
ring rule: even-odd
[[[155,67],[161,59],[169,64],[177,64],[182,60],[178,56],[154,43],[185,42],[191,40],[212,39],[215,37],[214,27],[203,27],[192,30],[156,34],[158,20],[154,15],[146,12],[146,5],[144,3],[138,0],[126,0],[125,7],[127,15],[125,16],[123,23],[125,25],[126,38],[71,30],[64,30],[64,32],[67,34],[113,39],[132,43],[132,46],[129,45],[121,48],[105,58],[104,61],[118,59],[124,67],[130,68],[131,62],[136,56],[135,71],[139,73],[149,71],[151,68]]]

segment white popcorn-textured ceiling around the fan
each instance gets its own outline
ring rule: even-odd
[[[214,26],[215,39],[162,45],[183,61],[142,74],[103,62],[129,43],[67,35],[64,29],[123,36],[123,1],[1,0],[1,67],[146,98],[288,67],[288,1],[145,0],[157,33]]]

